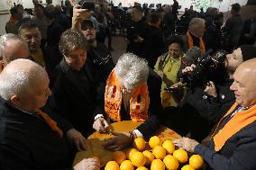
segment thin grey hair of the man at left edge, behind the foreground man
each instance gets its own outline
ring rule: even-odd
[[[6,44],[11,40],[14,40],[16,42],[22,43],[25,46],[27,46],[27,44],[19,36],[13,33],[5,33],[4,35],[2,35],[0,37],[0,58],[3,58],[5,63],[8,63],[7,61],[8,59],[5,58],[5,55],[4,55],[5,47],[6,47]]]

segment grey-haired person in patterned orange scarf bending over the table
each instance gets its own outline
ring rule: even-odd
[[[105,118],[111,121],[142,121],[144,123],[133,130],[133,135],[150,137],[151,132],[157,130],[160,124],[160,85],[160,76],[148,67],[144,59],[132,53],[124,54],[106,81]],[[104,115],[96,115],[96,130],[107,130],[105,118]],[[122,139],[122,144],[116,144],[116,139]],[[105,143],[105,148],[121,149],[129,142],[129,135],[117,135]]]

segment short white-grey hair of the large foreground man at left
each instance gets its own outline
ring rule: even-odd
[[[30,66],[15,67],[17,65]],[[10,100],[12,96],[25,96],[32,88],[33,83],[47,75],[43,67],[34,63],[32,60],[18,58],[10,62],[0,74],[0,95],[5,100]]]

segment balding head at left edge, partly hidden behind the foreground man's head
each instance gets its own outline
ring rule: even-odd
[[[0,37],[0,56],[4,66],[17,58],[30,58],[30,51],[26,43],[14,34],[5,34]]]

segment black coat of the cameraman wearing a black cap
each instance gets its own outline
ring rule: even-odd
[[[207,95],[204,86],[191,87],[180,105],[177,122],[172,122],[169,128],[176,130],[180,135],[190,132],[192,139],[201,141],[205,139],[213,126],[228,109],[233,105],[235,97],[229,89],[232,79],[226,79],[222,83],[215,83],[217,97]],[[179,122],[183,123],[180,124]]]

